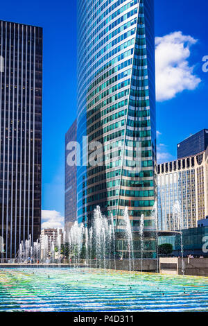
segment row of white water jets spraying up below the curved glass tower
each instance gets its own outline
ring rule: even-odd
[[[123,241],[125,256],[123,257],[122,253],[121,259],[128,259],[128,270],[131,272],[135,271],[135,261],[128,207],[125,207],[123,212],[123,226],[124,230],[120,232],[120,236],[121,241]],[[141,215],[139,235],[141,241],[141,271],[143,271],[144,215]],[[55,259],[58,259],[58,264],[63,262],[66,264],[69,259],[69,264],[76,267],[84,264],[85,266],[99,268],[100,271],[101,269],[116,269],[116,237],[119,237],[119,233],[117,234],[114,230],[113,215],[110,214],[110,218],[107,218],[101,213],[100,207],[96,207],[94,219],[92,219],[89,228],[87,228],[87,225],[78,224],[78,221],[75,221],[67,234],[63,232],[63,237],[59,229],[56,239],[55,232],[53,232],[51,237],[42,236],[41,243],[39,241],[31,243],[31,237],[29,237],[24,243],[22,241],[20,243],[19,258],[21,258],[21,261],[28,261],[29,258],[34,260],[36,257],[37,261],[41,257],[44,264],[53,264],[53,266],[55,266]]]

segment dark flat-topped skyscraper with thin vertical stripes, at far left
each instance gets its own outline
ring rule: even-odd
[[[0,232],[3,257],[40,237],[42,28],[0,21]]]

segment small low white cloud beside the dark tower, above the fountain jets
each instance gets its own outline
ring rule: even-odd
[[[57,211],[42,210],[42,229],[64,228],[64,216]]]

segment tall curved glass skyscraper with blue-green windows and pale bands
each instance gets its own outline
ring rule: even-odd
[[[112,213],[119,232],[128,206],[133,230],[141,214],[145,230],[153,230],[154,0],[78,0],[77,123],[84,157],[77,171],[78,221],[90,223],[99,205],[106,216]],[[103,144],[93,166],[85,162],[92,141]]]

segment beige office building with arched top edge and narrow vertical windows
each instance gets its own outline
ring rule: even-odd
[[[180,203],[182,228],[196,228],[208,216],[208,148],[157,166],[159,230],[179,230],[174,204]]]

